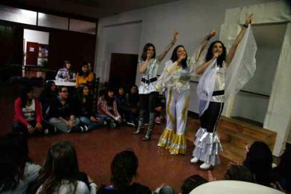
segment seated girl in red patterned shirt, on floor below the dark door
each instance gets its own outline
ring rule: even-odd
[[[116,124],[121,123],[121,115],[119,115],[117,110],[113,89],[107,89],[105,94],[99,98],[97,112],[97,116],[101,120],[109,122],[112,128],[115,128]]]

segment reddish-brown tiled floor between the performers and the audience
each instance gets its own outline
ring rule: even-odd
[[[14,114],[13,102],[16,98],[15,85],[0,85],[0,135],[10,131]],[[39,90],[39,89],[38,89]],[[134,150],[139,159],[136,181],[155,189],[162,183],[169,184],[179,192],[182,182],[192,174],[200,174],[207,178],[207,171],[199,170],[198,165],[190,164],[192,157],[192,142],[187,141],[185,156],[172,156],[166,150],[158,148],[157,140],[164,130],[156,125],[151,141],[142,141],[142,135],[133,135],[131,126],[121,126],[117,129],[99,128],[89,133],[57,134],[46,137],[31,137],[29,152],[34,163],[42,164],[47,150],[56,141],[72,141],[77,150],[79,168],[85,171],[98,184],[110,184],[110,163],[117,152]],[[229,161],[221,158],[222,164],[214,168],[217,178],[223,176],[223,171]]]

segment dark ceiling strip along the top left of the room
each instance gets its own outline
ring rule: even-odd
[[[178,0],[2,0],[1,3],[40,12],[103,18],[173,1]]]

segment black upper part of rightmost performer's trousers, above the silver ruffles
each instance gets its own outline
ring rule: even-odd
[[[213,133],[216,130],[223,105],[223,102],[210,102],[207,110],[199,117],[201,127],[206,128],[208,133]]]

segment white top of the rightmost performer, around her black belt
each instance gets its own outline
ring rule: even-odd
[[[226,63],[223,63],[223,67],[216,67],[216,79],[214,85],[214,92],[225,89],[225,71],[227,70]],[[212,96],[212,102],[225,102],[225,94],[219,96]]]

